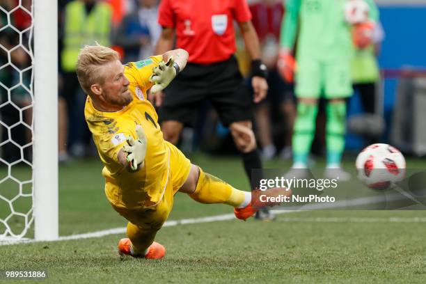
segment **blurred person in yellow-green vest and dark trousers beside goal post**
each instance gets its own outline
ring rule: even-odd
[[[112,12],[108,3],[99,0],[73,0],[66,4],[61,32],[61,90],[59,92],[59,160],[68,159],[67,148],[77,157],[85,155],[90,141],[83,109],[84,95],[79,88],[75,65],[84,45],[111,46]],[[65,114],[66,113],[66,114]],[[69,123],[67,127],[67,122]],[[69,129],[69,134],[67,135]],[[68,139],[67,139],[68,137]]]

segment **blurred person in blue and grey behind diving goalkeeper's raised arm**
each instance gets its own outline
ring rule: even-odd
[[[157,0],[138,0],[138,8],[118,26],[114,43],[123,47],[124,62],[139,61],[154,54],[161,33],[157,23]]]

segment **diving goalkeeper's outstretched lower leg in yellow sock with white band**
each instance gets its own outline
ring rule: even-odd
[[[231,187],[230,184],[214,175],[200,171],[196,189],[189,196],[200,203],[223,203],[233,207],[246,207],[251,201],[251,193]]]

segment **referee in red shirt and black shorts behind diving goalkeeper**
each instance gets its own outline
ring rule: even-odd
[[[234,21],[238,23],[246,49],[253,58],[253,98],[244,86],[234,56]],[[251,170],[262,168],[251,122],[253,102],[265,98],[268,85],[265,79],[267,69],[260,61],[259,40],[246,0],[161,0],[158,22],[163,30],[156,54],[170,50],[175,39],[176,48],[189,52],[187,67],[164,90],[164,95],[152,97],[156,106],[161,106],[159,113],[164,139],[178,143],[180,132],[184,125],[194,121],[200,103],[210,100],[223,125],[229,127],[251,180]],[[256,218],[271,220],[274,216],[263,209],[256,213]]]

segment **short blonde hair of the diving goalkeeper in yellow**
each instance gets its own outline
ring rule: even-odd
[[[86,94],[92,94],[90,86],[104,82],[102,72],[100,72],[102,65],[116,60],[120,60],[118,52],[99,44],[86,45],[80,50],[76,72],[80,86]]]

